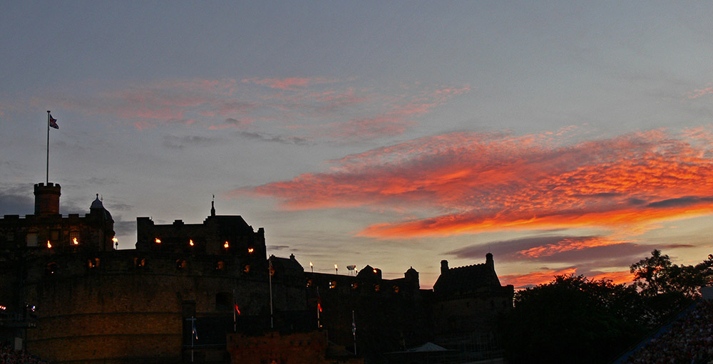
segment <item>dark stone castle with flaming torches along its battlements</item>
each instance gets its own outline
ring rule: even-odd
[[[0,219],[0,342],[52,363],[419,363],[407,349],[429,342],[458,363],[498,355],[493,325],[512,308],[492,254],[441,261],[432,290],[413,268],[313,273],[215,205],[202,224],[138,217],[135,249],[116,250],[98,197],[62,216],[59,184],[34,194],[33,215]]]

